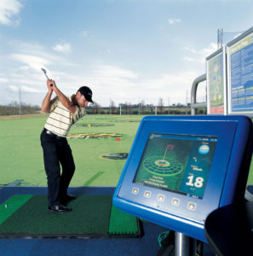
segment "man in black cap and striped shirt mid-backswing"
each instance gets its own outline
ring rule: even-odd
[[[67,195],[67,188],[75,172],[75,164],[66,135],[71,126],[85,115],[84,107],[88,102],[93,102],[92,91],[83,86],[76,95],[66,97],[54,80],[48,79],[47,86],[49,90],[43,99],[41,110],[50,114],[40,139],[48,178],[49,212],[70,212],[72,208],[66,204],[76,199],[76,196]],[[56,96],[51,100],[54,91]]]

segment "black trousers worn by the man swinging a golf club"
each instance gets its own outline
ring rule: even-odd
[[[44,167],[48,178],[49,206],[60,204],[64,200],[69,183],[75,172],[72,149],[64,137],[47,134],[43,129],[41,136]],[[60,174],[61,165],[61,174]]]

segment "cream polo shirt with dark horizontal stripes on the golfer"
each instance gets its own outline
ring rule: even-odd
[[[74,96],[75,95],[69,97],[71,102]],[[76,112],[71,113],[61,104],[58,96],[55,96],[55,98],[50,101],[50,114],[44,128],[60,137],[66,137],[71,126],[86,114],[85,108],[78,106],[76,106],[76,108]]]

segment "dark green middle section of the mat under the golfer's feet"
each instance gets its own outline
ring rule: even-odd
[[[24,196],[24,195],[23,195]],[[20,197],[20,195],[19,195]],[[3,203],[5,204],[5,202]],[[69,203],[72,212],[49,212],[47,195],[33,195],[0,224],[0,237],[107,237],[112,195],[79,195]],[[126,214],[126,213],[124,213]],[[113,213],[111,221],[117,220]],[[124,222],[124,218],[120,217]],[[136,219],[134,219],[137,225]],[[118,227],[116,234],[129,234]]]

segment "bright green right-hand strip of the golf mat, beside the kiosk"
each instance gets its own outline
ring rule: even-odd
[[[121,212],[112,205],[109,234],[136,234],[138,231],[137,218],[128,213]]]

